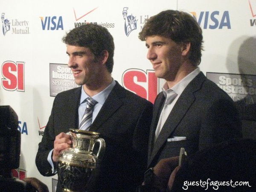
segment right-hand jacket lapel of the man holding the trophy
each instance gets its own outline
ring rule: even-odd
[[[122,86],[116,81],[116,85],[113,87],[113,90],[93,121],[90,131],[98,131],[101,125],[105,123],[121,105],[123,105],[120,99],[123,94],[122,89]]]

